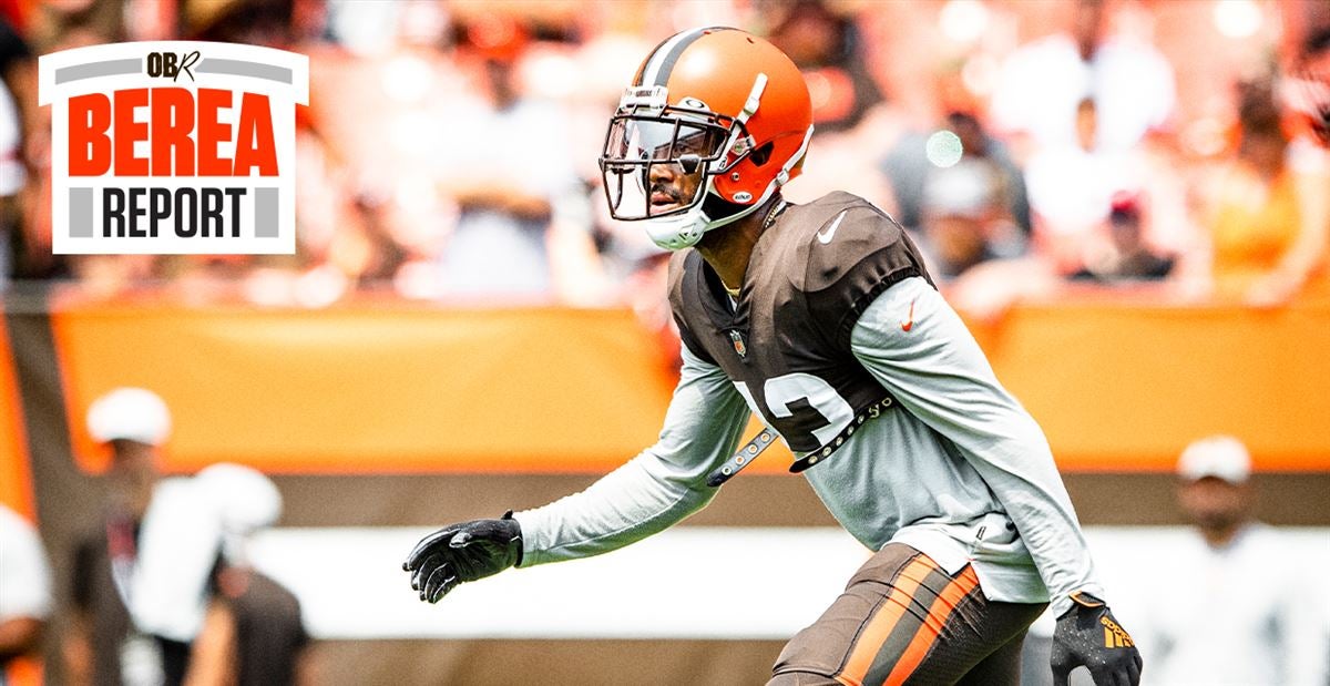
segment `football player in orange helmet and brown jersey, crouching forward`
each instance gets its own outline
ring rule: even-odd
[[[1134,685],[1035,420],[994,378],[900,226],[833,193],[786,202],[809,89],[767,41],[685,31],[641,64],[600,160],[610,211],[674,250],[682,370],[656,445],[587,491],[440,529],[411,550],[436,602],[503,569],[604,553],[705,507],[779,435],[875,554],[781,653],[773,685],[1017,683],[1048,604],[1056,681]],[[769,427],[735,451],[749,412]]]

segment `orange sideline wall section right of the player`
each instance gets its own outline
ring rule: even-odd
[[[1071,471],[1170,471],[1192,440],[1242,439],[1262,471],[1330,471],[1330,300],[1281,310],[1103,299],[974,326]]]

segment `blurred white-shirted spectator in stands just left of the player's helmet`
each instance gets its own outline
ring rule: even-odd
[[[545,298],[556,278],[552,223],[589,214],[572,209],[584,207],[587,194],[567,148],[565,112],[523,90],[519,61],[529,39],[520,24],[481,19],[464,36],[460,51],[481,96],[455,102],[439,122],[438,186],[458,206],[439,259],[443,290]]]

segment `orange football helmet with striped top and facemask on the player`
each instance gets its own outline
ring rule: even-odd
[[[809,88],[777,47],[725,27],[676,33],[610,118],[600,157],[610,215],[650,219],[657,245],[688,247],[797,177],[811,136]]]

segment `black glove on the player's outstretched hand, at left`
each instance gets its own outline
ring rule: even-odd
[[[521,564],[521,526],[512,511],[497,520],[444,526],[416,544],[402,564],[420,600],[439,602],[463,581],[485,578]]]

